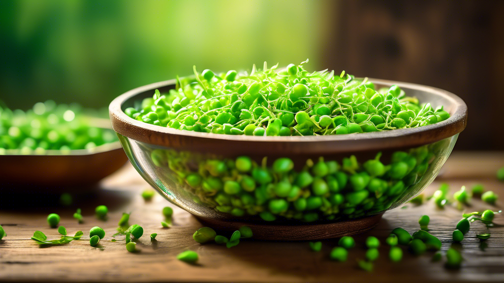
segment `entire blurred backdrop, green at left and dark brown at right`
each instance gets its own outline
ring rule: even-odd
[[[107,107],[149,83],[309,58],[460,96],[456,149],[502,150],[504,1],[0,0],[0,100]]]

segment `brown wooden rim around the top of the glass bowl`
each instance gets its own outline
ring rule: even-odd
[[[387,131],[352,133],[342,135],[321,136],[248,136],[228,135],[206,132],[178,130],[168,127],[151,125],[135,120],[126,115],[121,107],[128,99],[141,93],[175,85],[175,80],[163,81],[142,86],[116,97],[109,106],[112,128],[119,134],[155,146],[184,148],[209,145],[222,147],[249,146],[257,147],[258,151],[274,148],[290,152],[293,147],[299,152],[302,149],[312,152],[351,152],[362,150],[382,150],[400,147],[415,147],[431,144],[460,133],[467,124],[467,105],[455,94],[424,85],[396,82],[381,79],[368,79],[380,85],[398,85],[401,88],[423,91],[434,96],[443,97],[451,102],[451,117],[445,121],[417,128],[395,129]],[[448,105],[444,105],[448,108]],[[211,148],[211,146],[210,146]],[[268,151],[268,150],[265,150]],[[271,150],[270,150],[271,151]]]

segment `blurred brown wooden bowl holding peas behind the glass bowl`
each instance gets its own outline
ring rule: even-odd
[[[13,151],[14,152],[14,151]],[[43,155],[0,155],[0,191],[8,188],[31,187],[32,191],[80,192],[94,189],[92,185],[117,171],[128,158],[119,142],[87,150],[47,150]]]

